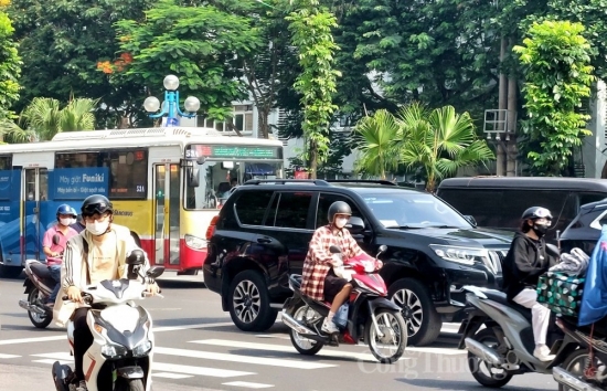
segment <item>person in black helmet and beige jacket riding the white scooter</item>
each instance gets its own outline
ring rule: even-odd
[[[86,324],[88,307],[83,303],[81,290],[87,285],[104,279],[127,278],[125,260],[134,250],[140,250],[130,235],[130,230],[113,223],[111,202],[100,194],[87,197],[82,204],[82,215],[86,230],[67,242],[61,279],[64,294],[73,303],[62,303],[56,316],[57,323],[65,324],[72,316],[74,323],[74,373],[76,384],[71,391],[87,391],[82,368],[86,350],[93,345],[93,335]],[[149,261],[146,257],[146,265]],[[158,285],[148,287],[151,294],[158,293]]]

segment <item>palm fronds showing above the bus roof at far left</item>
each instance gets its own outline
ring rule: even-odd
[[[9,142],[50,140],[57,133],[74,130],[94,130],[93,110],[98,99],[71,98],[61,108],[57,99],[35,97],[21,113],[19,125],[4,120],[0,124],[0,135]]]

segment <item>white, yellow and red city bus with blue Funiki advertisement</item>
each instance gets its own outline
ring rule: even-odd
[[[0,146],[0,274],[45,258],[42,237],[67,203],[90,194],[114,204],[150,262],[196,274],[205,232],[231,184],[284,176],[278,140],[224,136],[212,128],[66,131],[51,141]]]

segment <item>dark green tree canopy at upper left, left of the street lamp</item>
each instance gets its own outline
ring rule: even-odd
[[[123,61],[114,23],[142,19],[150,0],[12,0],[13,20],[23,57],[23,89],[15,109],[34,97],[67,104],[70,96],[99,99],[97,123],[115,127],[123,117],[136,118],[146,94],[141,85],[111,84],[97,64]],[[128,53],[127,53],[128,54]]]

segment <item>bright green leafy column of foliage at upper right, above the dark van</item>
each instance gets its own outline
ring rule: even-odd
[[[568,21],[533,23],[522,46],[515,46],[523,64],[523,94],[528,119],[521,121],[525,145],[539,144],[528,157],[540,175],[558,176],[568,165],[572,148],[592,135],[584,126],[588,115],[577,113],[590,95],[590,45],[584,27]],[[529,148],[528,148],[529,149]]]

